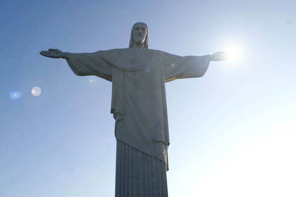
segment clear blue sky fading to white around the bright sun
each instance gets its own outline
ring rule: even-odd
[[[41,50],[149,48],[206,55],[202,78],[166,84],[170,196],[296,196],[294,1],[1,1],[0,196],[114,196],[111,83]],[[31,94],[39,86],[40,96]],[[11,100],[19,90],[22,98]]]

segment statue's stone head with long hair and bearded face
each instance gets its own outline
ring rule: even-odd
[[[130,46],[133,48],[134,42],[144,43],[144,48],[148,49],[148,27],[144,22],[136,22],[130,33]]]

